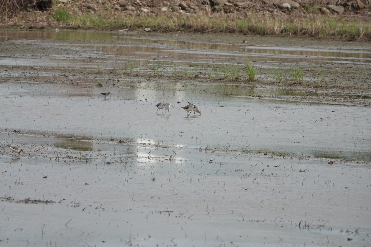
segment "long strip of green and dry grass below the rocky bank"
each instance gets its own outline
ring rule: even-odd
[[[371,23],[357,15],[322,15],[319,11],[321,2],[312,1],[303,3],[302,11],[292,11],[287,15],[262,14],[251,8],[244,15],[243,11],[232,13],[213,12],[211,15],[204,11],[196,11],[190,15],[171,14],[152,10],[149,13],[141,11],[121,11],[114,5],[96,6],[95,11],[86,11],[82,4],[66,4],[54,6],[50,11],[35,11],[30,15],[24,11],[27,6],[35,3],[29,0],[5,0],[0,4],[0,19],[4,23],[11,23],[17,15],[17,25],[27,23],[43,23],[49,26],[64,26],[69,28],[106,28],[121,29],[129,27],[131,30],[151,28],[155,31],[197,31],[217,33],[241,33],[257,35],[287,35],[309,36],[317,38],[341,38],[347,40],[371,40]],[[200,5],[201,6],[201,5]],[[135,13],[135,14],[134,14]],[[23,21],[22,21],[23,19]],[[14,19],[15,20],[15,19]],[[35,21],[37,20],[37,21]],[[53,22],[54,21],[54,22]],[[21,23],[19,23],[21,22]],[[13,23],[14,26],[14,23]],[[40,26],[41,27],[41,26]]]

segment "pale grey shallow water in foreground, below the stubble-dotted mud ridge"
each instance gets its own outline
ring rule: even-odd
[[[370,243],[368,166],[342,162],[330,166],[312,159],[243,154],[236,157],[174,147],[138,147],[137,152],[143,156],[109,151],[91,152],[82,158],[78,152],[58,159],[51,153],[49,158],[3,157],[4,197],[55,202],[24,204],[1,198],[4,243]],[[169,159],[171,155],[173,159]],[[24,212],[32,213],[24,217]]]

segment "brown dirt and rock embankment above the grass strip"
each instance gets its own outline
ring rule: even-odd
[[[63,9],[58,16],[56,9]],[[143,23],[146,16],[163,16],[169,18],[190,16],[207,16],[215,21],[224,18],[226,20],[239,20],[250,17],[274,18],[285,23],[295,23],[297,21],[316,16],[334,17],[336,20],[370,21],[371,19],[370,0],[119,0],[119,1],[100,1],[100,0],[9,0],[0,6],[0,27],[16,28],[87,28],[81,23],[63,22],[66,13],[73,17],[88,13],[91,19],[97,17],[108,17],[112,20],[122,17],[141,17]],[[88,21],[88,20],[87,20]],[[149,24],[149,23],[145,23]],[[150,25],[149,25],[150,26]],[[181,30],[195,30],[189,24],[178,25]],[[97,28],[110,29],[112,26],[101,25]],[[227,28],[227,32],[233,31],[233,27]],[[160,27],[156,27],[156,31]],[[215,31],[210,28],[198,27],[197,31]],[[222,31],[222,30],[217,30]],[[280,31],[282,32],[282,31]],[[253,32],[252,32],[253,33]],[[292,34],[290,34],[292,35]],[[300,36],[300,33],[295,33]],[[314,34],[315,35],[315,34]],[[368,35],[368,30],[365,30]]]

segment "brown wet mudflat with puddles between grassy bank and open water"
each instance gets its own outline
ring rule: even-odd
[[[117,87],[126,81],[239,84],[259,89],[252,97],[331,104],[370,105],[371,50],[365,43],[281,37],[141,32],[3,31],[2,81],[91,83]],[[246,44],[242,40],[247,39]],[[247,60],[257,81],[244,80]],[[223,67],[238,67],[229,80]],[[295,68],[303,81],[294,81]],[[277,81],[274,72],[282,80]],[[82,76],[83,75],[83,76]],[[119,83],[115,83],[119,82]],[[295,90],[295,94],[289,93]]]

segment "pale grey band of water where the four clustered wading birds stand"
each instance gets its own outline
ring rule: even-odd
[[[221,94],[235,86],[155,84],[111,89],[0,84],[4,130],[54,132],[76,139],[131,140],[188,148],[237,149],[371,161],[370,108],[285,102]],[[194,102],[201,116],[181,106]],[[171,102],[168,113],[155,104]],[[177,104],[180,101],[181,104]],[[89,149],[89,147],[87,147]],[[91,147],[90,147],[91,148]]]

